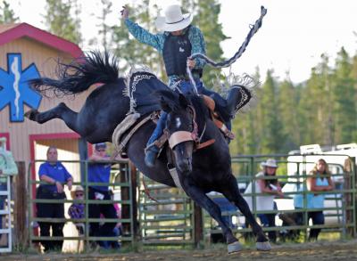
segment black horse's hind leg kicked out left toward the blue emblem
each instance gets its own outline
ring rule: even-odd
[[[46,123],[48,120],[53,118],[62,118],[67,126],[69,126],[73,131],[79,133],[79,130],[77,129],[78,113],[68,108],[63,102],[58,104],[53,109],[46,110],[44,112],[29,110],[25,113],[25,116],[40,124]]]

